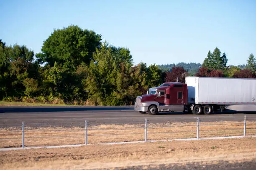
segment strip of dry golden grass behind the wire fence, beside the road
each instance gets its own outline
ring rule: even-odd
[[[256,135],[255,121],[248,121],[246,128],[246,135]],[[21,147],[20,128],[2,128],[0,131],[0,148]],[[196,122],[148,123],[147,140],[196,138],[196,131]],[[80,127],[26,127],[25,146],[84,144],[84,134],[85,129]],[[144,124],[88,127],[89,144],[143,141],[144,135]],[[200,138],[239,135],[243,135],[243,122],[200,122]]]

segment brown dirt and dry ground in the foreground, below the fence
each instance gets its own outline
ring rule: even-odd
[[[229,168],[223,167],[223,161]],[[87,145],[77,148],[0,152],[2,170],[170,169],[170,167],[194,169],[197,165],[202,169],[208,165],[215,169],[217,165],[222,165],[222,168],[218,166],[220,169],[232,169],[237,163],[237,167],[246,163],[244,168],[247,170],[255,167],[256,138]]]

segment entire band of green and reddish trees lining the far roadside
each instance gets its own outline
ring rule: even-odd
[[[255,78],[255,58],[247,69],[225,67],[216,47],[193,75]],[[170,70],[141,62],[133,65],[129,49],[102,42],[101,35],[78,26],[57,29],[34,54],[25,45],[0,40],[0,100],[75,105],[133,105],[136,96],[163,82],[184,82],[191,75],[186,63]]]

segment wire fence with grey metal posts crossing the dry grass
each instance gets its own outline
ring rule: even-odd
[[[193,122],[145,119],[111,123],[79,120],[22,124],[5,121],[0,123],[0,148],[256,135],[256,117],[232,119],[222,117],[209,122],[195,117]]]

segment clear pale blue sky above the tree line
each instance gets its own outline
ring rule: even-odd
[[[3,0],[0,39],[41,51],[54,29],[78,25],[127,47],[134,64],[200,62],[219,47],[228,65],[256,56],[255,0]]]

